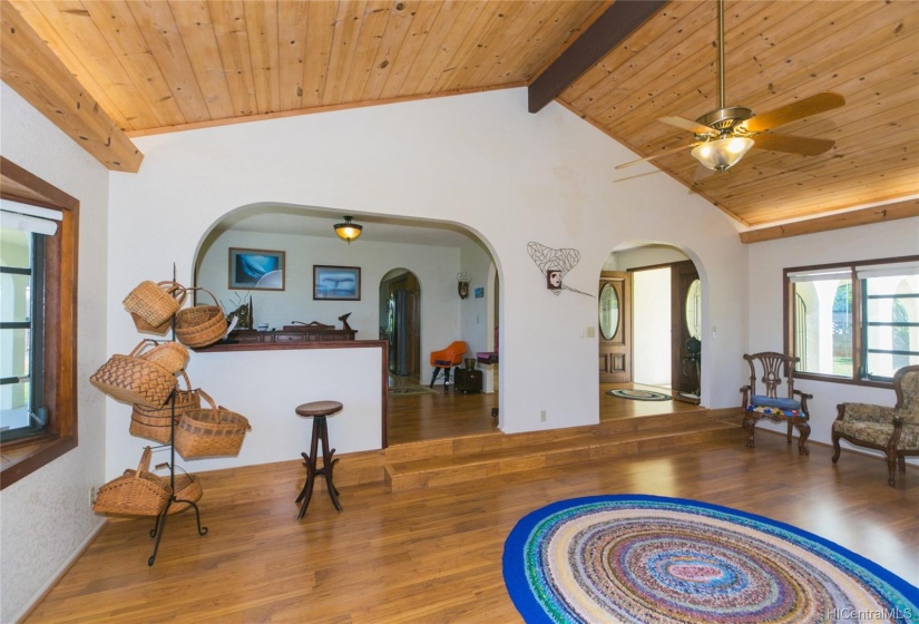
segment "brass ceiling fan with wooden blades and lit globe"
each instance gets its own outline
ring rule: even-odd
[[[804,156],[818,156],[832,148],[835,142],[792,135],[764,134],[765,130],[803,119],[845,104],[835,92],[823,91],[802,100],[755,115],[744,106],[724,106],[724,0],[718,6],[718,108],[706,113],[695,121],[684,117],[659,117],[658,121],[690,130],[695,142],[676,149],[662,152],[646,158],[632,160],[616,168],[647,163],[681,149],[692,148],[692,156],[704,169],[724,172],[736,165],[751,147],[771,152],[788,152]],[[700,176],[696,176],[700,177]]]

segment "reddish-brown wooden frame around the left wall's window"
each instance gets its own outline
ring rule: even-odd
[[[0,445],[0,489],[77,447],[77,259],[79,202],[59,188],[0,156],[0,197],[7,182],[30,192],[30,203],[58,208],[62,221],[46,244],[45,404],[48,431],[38,437]],[[47,201],[40,202],[39,198]]]

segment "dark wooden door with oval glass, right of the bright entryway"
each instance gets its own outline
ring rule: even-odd
[[[693,353],[690,339],[702,338],[702,306],[698,272],[692,261],[678,262],[671,270],[671,362],[673,391],[676,398],[697,400],[701,353]],[[697,365],[698,364],[698,365]]]

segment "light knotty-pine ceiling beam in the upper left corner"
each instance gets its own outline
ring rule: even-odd
[[[144,155],[9,2],[0,2],[0,79],[110,170]]]

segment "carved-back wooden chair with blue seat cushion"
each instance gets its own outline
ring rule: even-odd
[[[774,351],[744,354],[743,359],[750,365],[750,383],[741,388],[743,426],[749,433],[746,446],[753,448],[756,423],[765,418],[772,422],[788,423],[789,445],[792,441],[792,429],[798,429],[801,435],[798,452],[810,455],[808,399],[813,399],[813,394],[794,389],[794,365],[799,359]]]

